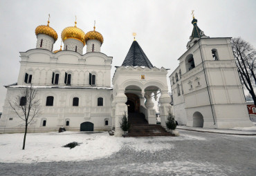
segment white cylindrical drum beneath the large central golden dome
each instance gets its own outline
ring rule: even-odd
[[[84,48],[84,43],[77,39],[66,39],[64,41],[64,48],[63,50],[71,50],[75,51],[75,47],[77,48],[76,52],[82,55],[82,50]]]

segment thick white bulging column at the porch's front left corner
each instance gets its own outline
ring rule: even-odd
[[[120,122],[122,121],[123,115],[125,113],[127,114],[127,112],[128,112],[127,105],[125,104],[127,102],[125,90],[119,90],[114,101],[116,101],[115,136],[120,137],[124,134],[124,132],[120,128]],[[128,115],[127,115],[127,117],[128,117]]]

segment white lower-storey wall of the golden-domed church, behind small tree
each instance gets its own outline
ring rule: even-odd
[[[89,121],[94,124],[94,130],[109,130],[111,128],[111,94],[112,90],[38,88],[37,99],[42,105],[37,122],[29,126],[29,132],[44,132],[58,130],[80,130],[80,124]],[[8,88],[0,119],[0,133],[23,132],[24,124],[10,108],[9,100],[13,101],[19,95],[19,88]],[[53,96],[53,106],[46,106],[46,97]],[[79,106],[73,106],[73,97],[79,98]],[[98,106],[98,97],[103,98],[103,106]],[[10,120],[12,118],[12,120]],[[46,126],[42,120],[46,119]],[[70,126],[66,126],[66,119]],[[109,125],[104,121],[108,119]]]

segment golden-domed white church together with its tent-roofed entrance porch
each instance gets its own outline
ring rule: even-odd
[[[85,34],[75,21],[75,26],[62,31],[63,50],[61,46],[53,51],[58,36],[49,23],[35,29],[36,48],[20,52],[17,84],[6,86],[0,133],[24,132],[21,126],[24,122],[12,110],[9,100],[19,95],[20,88],[30,84],[37,88],[42,105],[37,121],[28,126],[30,133],[56,131],[60,127],[81,131],[116,127],[115,135],[120,136],[120,121],[125,113],[135,113],[134,117],[143,113],[147,124],[156,124],[151,99],[152,93],[156,97],[158,91],[161,91],[161,115],[165,121],[170,106],[167,70],[152,66],[137,41],[132,43],[122,66],[116,68],[111,87],[113,58],[100,52],[103,37],[95,31],[95,26]],[[21,97],[19,104],[22,103]]]

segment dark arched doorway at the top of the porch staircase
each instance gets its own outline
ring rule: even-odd
[[[140,112],[140,98],[133,93],[125,93],[127,96],[128,113]]]

